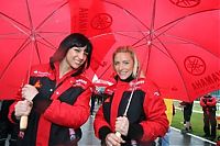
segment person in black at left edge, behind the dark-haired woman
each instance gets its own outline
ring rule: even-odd
[[[6,146],[6,142],[9,135],[9,146],[16,146],[16,139],[19,134],[19,125],[12,124],[8,119],[9,106],[14,100],[1,101],[0,108],[0,146]]]

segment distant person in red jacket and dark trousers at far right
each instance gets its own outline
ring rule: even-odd
[[[205,94],[200,98],[200,105],[202,106],[204,111],[204,136],[211,141],[216,139],[217,136],[216,104],[217,98],[212,97],[211,94]]]

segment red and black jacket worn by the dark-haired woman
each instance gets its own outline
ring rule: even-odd
[[[58,78],[58,64],[52,69],[48,64],[32,67],[30,85],[37,88],[29,124],[21,139],[23,146],[65,145],[70,142],[69,128],[78,128],[89,117],[91,96],[90,81],[84,76],[68,72]],[[21,98],[20,98],[21,99]],[[14,117],[14,106],[9,117]]]

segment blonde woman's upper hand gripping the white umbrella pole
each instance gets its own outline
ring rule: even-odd
[[[117,117],[116,132],[127,136],[129,132],[129,119],[127,116]]]

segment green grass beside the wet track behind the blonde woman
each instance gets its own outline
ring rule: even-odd
[[[178,102],[174,102],[175,106],[177,106]],[[193,126],[193,134],[197,135],[197,136],[202,136],[204,133],[204,114],[202,114],[202,110],[200,108],[200,105],[198,103],[194,104],[194,110],[196,110],[197,112],[194,112],[191,115],[191,126]],[[199,111],[199,112],[198,112]],[[217,111],[219,114],[219,111]],[[183,121],[184,121],[184,113],[180,109],[176,108],[176,114],[173,117],[172,121],[172,126],[176,127],[178,130],[183,130],[184,125],[183,125]],[[220,130],[217,130],[217,137],[220,136]]]

